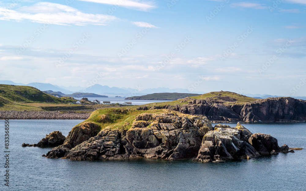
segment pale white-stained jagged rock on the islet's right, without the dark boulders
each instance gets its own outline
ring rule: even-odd
[[[221,126],[221,127],[218,127]],[[226,161],[230,159],[251,159],[259,156],[259,153],[249,144],[246,139],[251,132],[240,123],[235,128],[228,125],[216,125],[215,130],[205,134],[201,148],[195,161],[211,162]]]

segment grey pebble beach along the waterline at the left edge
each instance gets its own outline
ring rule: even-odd
[[[67,111],[1,111],[0,119],[87,119],[91,113]]]

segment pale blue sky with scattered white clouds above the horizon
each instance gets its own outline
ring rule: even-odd
[[[305,96],[305,0],[0,1],[0,80]]]

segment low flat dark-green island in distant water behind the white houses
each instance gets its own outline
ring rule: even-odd
[[[190,93],[154,93],[145,96],[133,96],[125,99],[136,99],[136,100],[177,100],[189,96],[200,96],[200,94]]]

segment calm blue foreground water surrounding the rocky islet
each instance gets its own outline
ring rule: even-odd
[[[82,120],[9,120],[9,187],[4,186],[4,120],[0,120],[0,190],[306,190],[306,150],[223,163],[134,159],[70,161],[41,155],[51,148],[34,144],[52,131],[67,136]],[[215,125],[215,124],[214,124]],[[235,124],[230,124],[235,126]],[[306,148],[306,124],[243,124],[267,133],[278,144]]]

